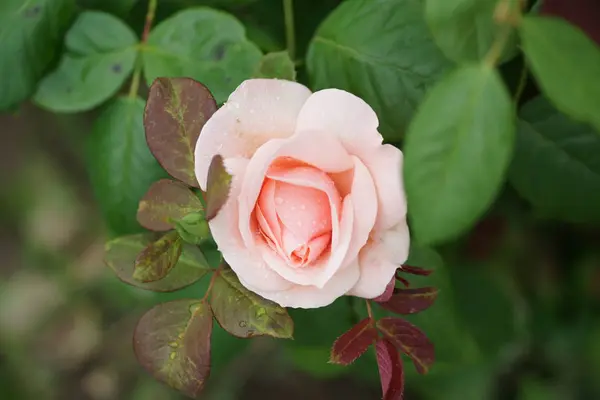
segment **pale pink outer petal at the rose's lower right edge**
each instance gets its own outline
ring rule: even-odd
[[[380,296],[408,258],[410,238],[406,222],[376,235],[359,254],[360,278],[349,295],[373,299]]]

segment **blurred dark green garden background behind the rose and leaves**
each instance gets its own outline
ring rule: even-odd
[[[81,3],[119,12],[128,2],[136,3],[127,15],[139,31],[144,1]],[[210,1],[161,1],[158,20],[198,3]],[[275,50],[283,48],[280,3],[226,8],[249,26],[253,40]],[[296,1],[299,52],[338,3]],[[547,11],[580,22],[598,38],[589,13],[572,13],[566,3],[548,0]],[[504,67],[509,79],[520,63]],[[131,334],[144,310],[200,296],[206,282],[158,295],[122,284],[103,265],[107,234],[83,151],[93,117],[29,104],[0,116],[3,400],[181,398],[137,365]],[[507,187],[470,235],[435,251],[415,247],[410,262],[436,270],[415,283],[436,285],[441,295],[412,318],[436,344],[439,362],[420,377],[406,361],[407,399],[600,398],[598,227],[546,221]],[[362,313],[362,303],[347,299],[294,312],[296,340],[289,342],[238,340],[217,327],[212,377],[201,398],[379,398],[372,352],[351,368],[327,364],[333,340]]]

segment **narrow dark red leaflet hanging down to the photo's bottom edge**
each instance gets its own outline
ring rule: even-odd
[[[404,398],[404,367],[398,350],[388,339],[379,339],[375,345],[377,366],[381,379],[383,400]]]

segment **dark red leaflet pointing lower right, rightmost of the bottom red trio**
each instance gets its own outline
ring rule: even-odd
[[[416,326],[400,318],[386,317],[377,321],[377,328],[399,350],[409,356],[417,372],[425,374],[435,360],[433,343]]]

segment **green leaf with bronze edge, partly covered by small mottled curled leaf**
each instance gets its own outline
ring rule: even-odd
[[[154,292],[172,292],[184,288],[210,271],[200,249],[183,244],[177,265],[163,279],[156,282],[139,282],[133,277],[136,258],[155,240],[154,234],[136,234],[113,239],[106,243],[104,261],[123,282]]]

